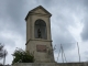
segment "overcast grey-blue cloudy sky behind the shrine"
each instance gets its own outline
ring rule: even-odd
[[[6,64],[12,63],[16,47],[25,50],[28,12],[38,6],[52,13],[51,29],[54,56],[57,61],[61,44],[67,62],[88,61],[88,0],[0,0],[0,43],[8,50]],[[0,61],[1,62],[1,61]]]

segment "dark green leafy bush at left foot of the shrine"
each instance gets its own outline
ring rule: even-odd
[[[14,63],[33,63],[34,62],[34,56],[30,54],[29,52],[24,52],[21,48],[18,48],[13,53],[13,62]]]

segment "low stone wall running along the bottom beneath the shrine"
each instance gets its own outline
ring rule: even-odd
[[[16,63],[13,66],[88,66],[88,63]]]

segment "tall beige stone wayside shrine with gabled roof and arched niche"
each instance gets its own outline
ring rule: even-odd
[[[35,63],[53,63],[51,37],[52,14],[42,6],[31,10],[26,18],[26,51],[32,53]]]

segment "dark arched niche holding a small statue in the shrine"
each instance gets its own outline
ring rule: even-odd
[[[38,19],[34,23],[34,35],[35,38],[47,38],[46,35],[46,23]]]

